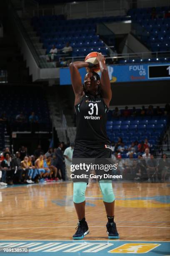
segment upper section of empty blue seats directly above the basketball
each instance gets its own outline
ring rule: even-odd
[[[108,49],[96,34],[97,23],[128,20],[129,18],[103,17],[89,19],[65,20],[62,15],[40,16],[32,18],[32,26],[47,52],[55,44],[57,49],[62,49],[66,42],[70,42],[72,56],[86,56],[90,51],[102,51],[107,55]]]

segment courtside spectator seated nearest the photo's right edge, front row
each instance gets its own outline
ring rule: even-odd
[[[166,154],[159,160],[158,170],[161,173],[161,181],[165,182],[167,175],[170,176],[170,161]]]

